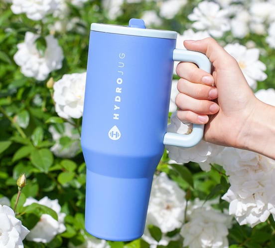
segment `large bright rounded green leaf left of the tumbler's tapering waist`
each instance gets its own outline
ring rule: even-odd
[[[30,161],[41,172],[47,173],[53,164],[53,155],[49,149],[35,149],[30,154]]]

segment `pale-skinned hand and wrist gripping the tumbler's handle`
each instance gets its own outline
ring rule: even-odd
[[[275,107],[255,97],[237,61],[213,38],[185,40],[184,46],[206,54],[213,69],[209,74],[193,63],[178,64],[178,118],[205,124],[207,142],[275,159]]]

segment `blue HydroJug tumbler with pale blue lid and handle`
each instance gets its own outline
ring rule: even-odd
[[[87,166],[85,228],[111,241],[142,236],[154,171],[164,145],[195,146],[191,134],[167,133],[174,61],[210,72],[199,52],[175,49],[175,31],[92,23],[81,146]]]

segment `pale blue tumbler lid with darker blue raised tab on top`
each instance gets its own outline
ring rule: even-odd
[[[177,32],[175,31],[146,28],[144,21],[142,19],[136,18],[133,18],[129,21],[129,26],[92,23],[91,30],[164,39],[177,38]]]

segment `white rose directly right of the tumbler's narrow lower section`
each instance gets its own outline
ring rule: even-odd
[[[154,225],[162,233],[180,228],[185,206],[185,192],[162,172],[153,180],[146,225]]]

